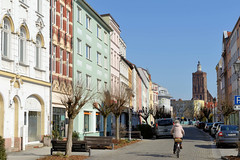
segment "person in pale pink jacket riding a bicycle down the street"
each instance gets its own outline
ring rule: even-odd
[[[175,154],[175,151],[176,151],[175,138],[183,139],[183,136],[185,135],[185,132],[184,132],[179,120],[174,121],[174,126],[171,129],[171,134],[173,135],[173,138],[174,138],[173,153]],[[181,142],[180,148],[182,149],[182,142]]]

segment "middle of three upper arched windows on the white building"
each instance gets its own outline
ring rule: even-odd
[[[20,28],[19,36],[19,62],[25,63],[26,58],[26,29],[22,26]]]

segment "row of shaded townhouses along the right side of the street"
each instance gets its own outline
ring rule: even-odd
[[[240,17],[231,32],[224,31],[222,39],[222,54],[216,65],[217,74],[217,120],[224,120],[227,124],[239,124],[239,115],[233,111],[224,118],[224,106],[233,107],[234,97],[239,95],[239,73],[235,72],[234,64],[239,60],[239,29]]]

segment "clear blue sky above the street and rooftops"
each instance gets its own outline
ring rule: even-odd
[[[192,73],[200,61],[207,88],[217,96],[215,67],[223,31],[232,31],[240,0],[86,0],[110,13],[127,45],[127,59],[151,74],[174,99],[192,98]]]

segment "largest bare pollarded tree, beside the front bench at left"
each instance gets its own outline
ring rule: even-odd
[[[84,105],[89,103],[93,97],[94,92],[86,89],[83,84],[74,85],[73,83],[61,82],[62,96],[61,102],[66,107],[67,115],[69,118],[67,146],[65,155],[69,156],[72,153],[72,133],[73,133],[73,120],[78,115],[79,111]]]

